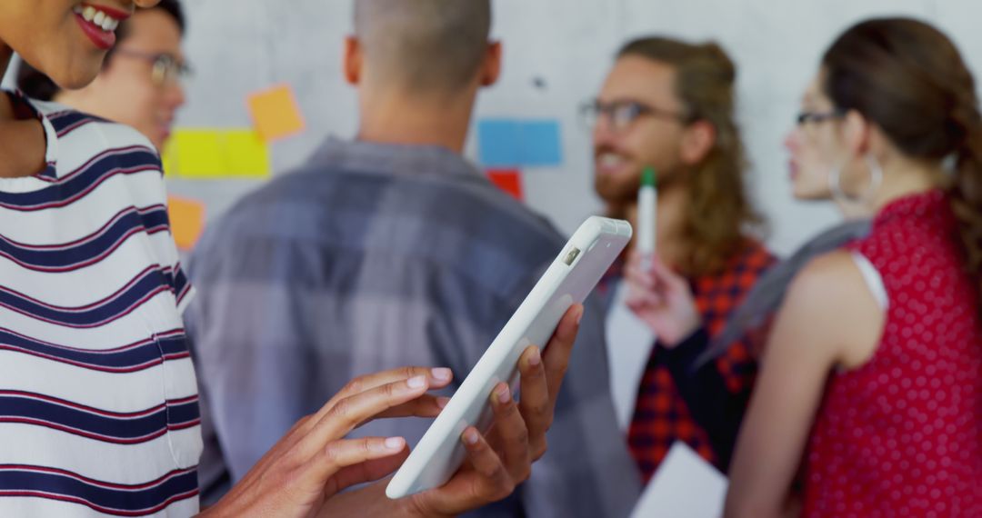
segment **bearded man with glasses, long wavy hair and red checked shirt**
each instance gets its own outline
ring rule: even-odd
[[[774,261],[747,234],[762,221],[743,184],[735,78],[733,62],[716,43],[643,38],[622,48],[597,99],[583,107],[593,129],[595,187],[610,216],[636,224],[642,172],[657,172],[653,262],[687,280],[699,312],[693,318],[710,336]],[[677,371],[670,370],[677,356],[693,353],[680,346],[688,337],[667,333],[671,326],[662,326],[657,339],[634,335],[637,343],[624,333],[627,308],[635,301],[621,280],[626,265],[637,264],[615,265],[603,285],[610,300],[612,389],[631,453],[645,481],[676,440],[725,470],[729,452],[715,451],[713,438],[697,424],[711,409],[688,408],[673,379]],[[655,331],[646,324],[645,331]],[[729,388],[752,383],[754,356],[748,344],[738,343],[717,361]],[[634,361],[620,361],[626,357]]]

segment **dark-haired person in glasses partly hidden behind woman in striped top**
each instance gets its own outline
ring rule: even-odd
[[[177,110],[185,103],[180,82],[189,73],[181,51],[184,31],[181,4],[162,0],[155,7],[136,11],[116,29],[117,44],[88,86],[62,90],[24,62],[17,85],[30,98],[59,102],[133,127],[159,150],[171,133]]]

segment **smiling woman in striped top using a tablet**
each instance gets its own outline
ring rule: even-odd
[[[119,23],[156,3],[4,0],[0,76],[16,51],[60,86],[82,87]],[[151,142],[0,92],[0,515],[198,512],[197,388],[181,317],[192,296]],[[450,515],[508,495],[544,452],[581,311],[543,357],[526,351],[520,402],[496,388],[492,433],[464,432],[470,461],[443,488],[392,501],[374,484],[333,497],[407,454],[402,438],[348,432],[440,411],[426,391],[450,372],[403,368],[355,380],[205,514]]]

